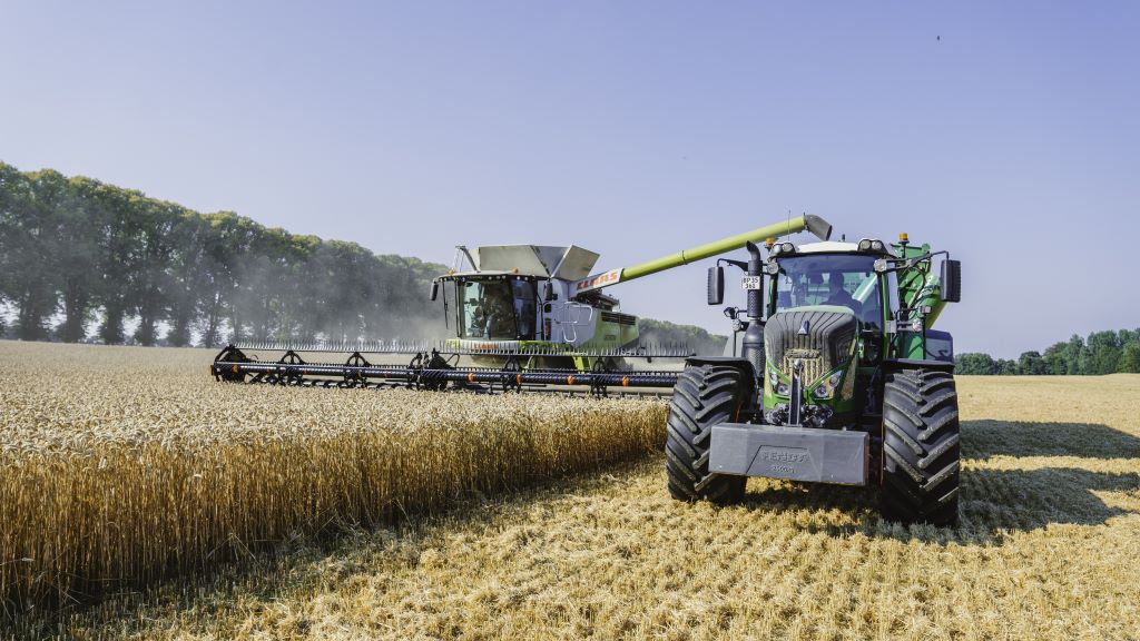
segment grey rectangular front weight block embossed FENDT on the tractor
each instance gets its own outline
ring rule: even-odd
[[[709,471],[809,482],[866,485],[870,435],[799,427],[712,427]]]

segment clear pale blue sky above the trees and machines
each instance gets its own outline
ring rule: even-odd
[[[1140,326],[1135,2],[50,2],[0,14],[0,160],[449,263],[620,267],[809,212],[963,261],[1016,357]],[[806,238],[805,238],[806,240]],[[627,311],[725,331],[705,265]]]

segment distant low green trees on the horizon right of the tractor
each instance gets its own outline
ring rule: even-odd
[[[988,354],[959,354],[959,374],[1040,375],[1140,373],[1140,328],[1092,332],[1088,339],[1073,334],[1040,351],[1026,351],[1017,360]]]

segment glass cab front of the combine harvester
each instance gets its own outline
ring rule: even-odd
[[[459,281],[459,338],[532,339],[536,326],[535,284],[521,278]]]

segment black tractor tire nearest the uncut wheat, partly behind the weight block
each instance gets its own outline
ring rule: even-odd
[[[665,439],[665,471],[674,498],[719,505],[743,498],[748,477],[710,473],[709,447],[712,425],[738,416],[747,386],[744,373],[727,365],[690,365],[681,372]]]

